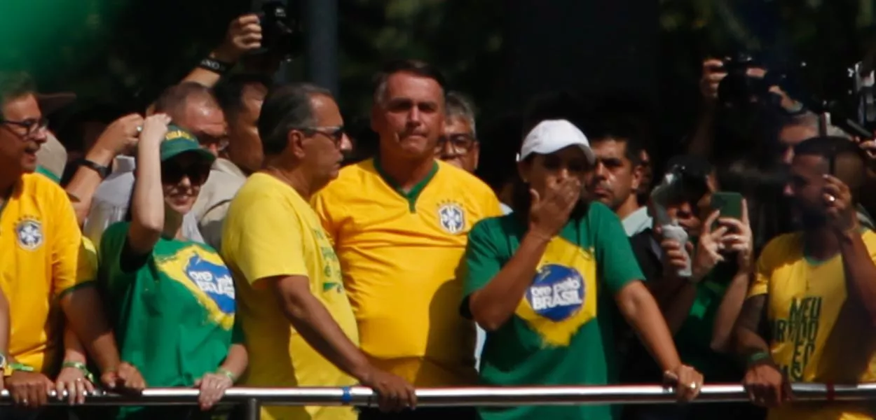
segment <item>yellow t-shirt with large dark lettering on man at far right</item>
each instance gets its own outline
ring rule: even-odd
[[[861,235],[876,261],[876,234]],[[770,351],[792,382],[856,384],[876,380],[876,336],[864,309],[847,299],[843,259],[811,261],[802,234],[767,244],[749,296],[768,295]],[[771,409],[770,420],[872,419],[872,407],[855,402],[796,402]]]

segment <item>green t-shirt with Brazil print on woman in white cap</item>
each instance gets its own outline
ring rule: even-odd
[[[465,301],[517,251],[526,227],[514,214],[471,229]],[[605,385],[617,381],[612,297],[643,278],[618,217],[600,203],[569,221],[541,257],[533,284],[512,318],[487,332],[481,380],[494,386]],[[463,314],[470,315],[463,303]],[[485,420],[614,418],[610,406],[479,409]]]

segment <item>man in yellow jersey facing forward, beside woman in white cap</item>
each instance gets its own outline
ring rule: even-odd
[[[343,168],[314,207],[334,241],[362,349],[420,387],[476,379],[475,328],[459,314],[470,228],[502,214],[490,187],[434,158],[444,83],[434,67],[396,61],[375,78],[377,158]],[[418,409],[392,418],[472,418],[473,409]],[[382,418],[363,410],[360,419]]]

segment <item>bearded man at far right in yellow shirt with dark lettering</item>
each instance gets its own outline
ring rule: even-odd
[[[788,388],[876,380],[869,333],[876,325],[876,234],[855,214],[864,162],[843,137],[813,137],[794,148],[785,194],[800,230],[761,252],[736,326],[745,388],[752,402],[770,408],[770,420],[874,418],[872,404],[795,402]]]

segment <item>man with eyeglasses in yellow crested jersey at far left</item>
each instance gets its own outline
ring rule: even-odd
[[[72,342],[76,337],[101,369],[103,385],[144,387],[136,367],[118,358],[94,282],[77,276],[82,240],[67,194],[33,173],[45,142],[46,118],[31,79],[0,73],[0,287],[9,300],[11,323],[9,353],[0,364],[15,402],[30,408],[46,403],[61,370],[80,376],[78,381],[57,378],[59,383],[85,380],[85,365],[67,360],[62,348],[79,348]],[[63,343],[60,314],[74,332]],[[15,408],[0,411],[2,418],[33,416]]]

